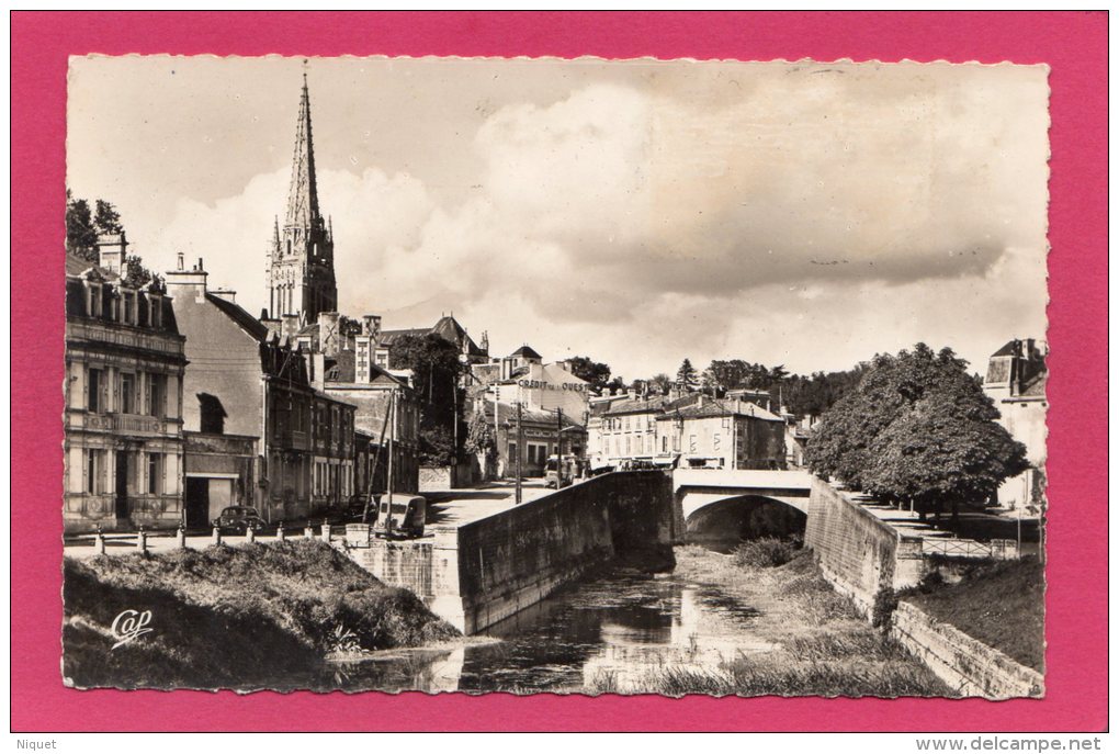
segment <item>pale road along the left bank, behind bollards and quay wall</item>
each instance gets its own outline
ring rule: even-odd
[[[548,490],[543,481],[534,480],[525,482],[521,490],[521,500],[535,500]],[[427,526],[454,526],[459,527],[470,521],[476,521],[487,516],[513,508],[516,502],[516,488],[513,482],[495,482],[481,488],[469,490],[445,490],[425,491],[423,496],[427,498]],[[312,535],[321,536],[321,521],[312,521]],[[286,537],[289,539],[305,537],[305,522],[285,525]],[[331,527],[331,536],[341,539],[345,536],[345,525],[335,524]],[[256,541],[275,541],[274,529],[267,529],[266,534],[257,535]],[[228,545],[239,545],[245,543],[242,535],[223,535],[222,541]],[[187,534],[187,547],[201,549],[213,544],[213,532],[189,531]],[[178,547],[176,532],[171,530],[152,531],[148,535],[148,550],[160,553],[172,550]],[[134,532],[105,535],[105,553],[125,554],[137,549],[137,535]],[[70,538],[66,540],[64,554],[67,557],[87,558],[96,555],[92,536]]]

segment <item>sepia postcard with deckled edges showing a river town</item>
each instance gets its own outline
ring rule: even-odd
[[[70,58],[65,684],[1043,696],[1049,124],[1043,65]]]

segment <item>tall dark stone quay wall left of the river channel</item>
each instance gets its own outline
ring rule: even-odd
[[[669,475],[615,472],[458,528],[430,527],[431,537],[350,541],[347,552],[471,634],[618,555],[668,548],[677,535],[673,508]]]

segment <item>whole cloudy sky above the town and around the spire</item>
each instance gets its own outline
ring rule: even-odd
[[[301,59],[73,58],[67,183],[257,313]],[[1047,70],[312,58],[339,307],[628,379],[1044,337]]]

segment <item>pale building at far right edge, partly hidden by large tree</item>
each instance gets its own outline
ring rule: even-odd
[[[999,424],[1026,446],[1031,466],[1003,482],[998,502],[1012,509],[1033,509],[1029,512],[1034,513],[1040,512],[1045,494],[1046,355],[1044,342],[1012,340],[991,355],[982,385],[998,408]]]

